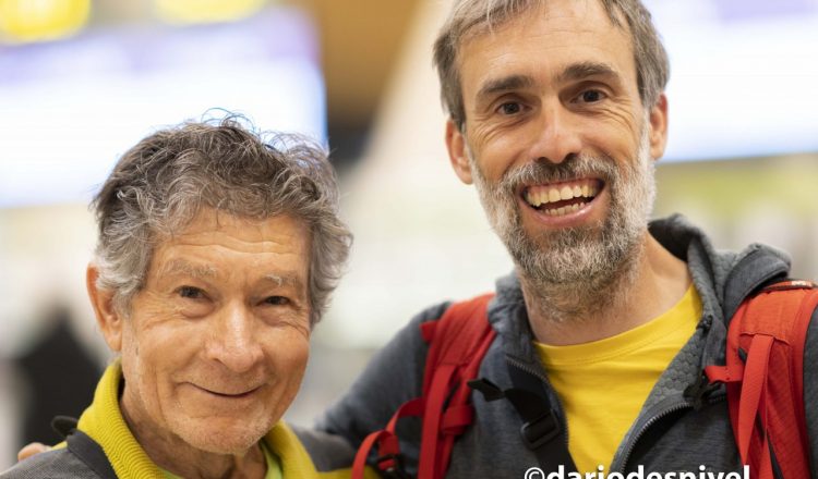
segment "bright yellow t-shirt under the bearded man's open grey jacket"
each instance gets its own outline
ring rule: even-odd
[[[568,451],[579,472],[611,465],[653,384],[693,335],[701,298],[691,285],[669,311],[592,343],[534,342],[568,421]]]

